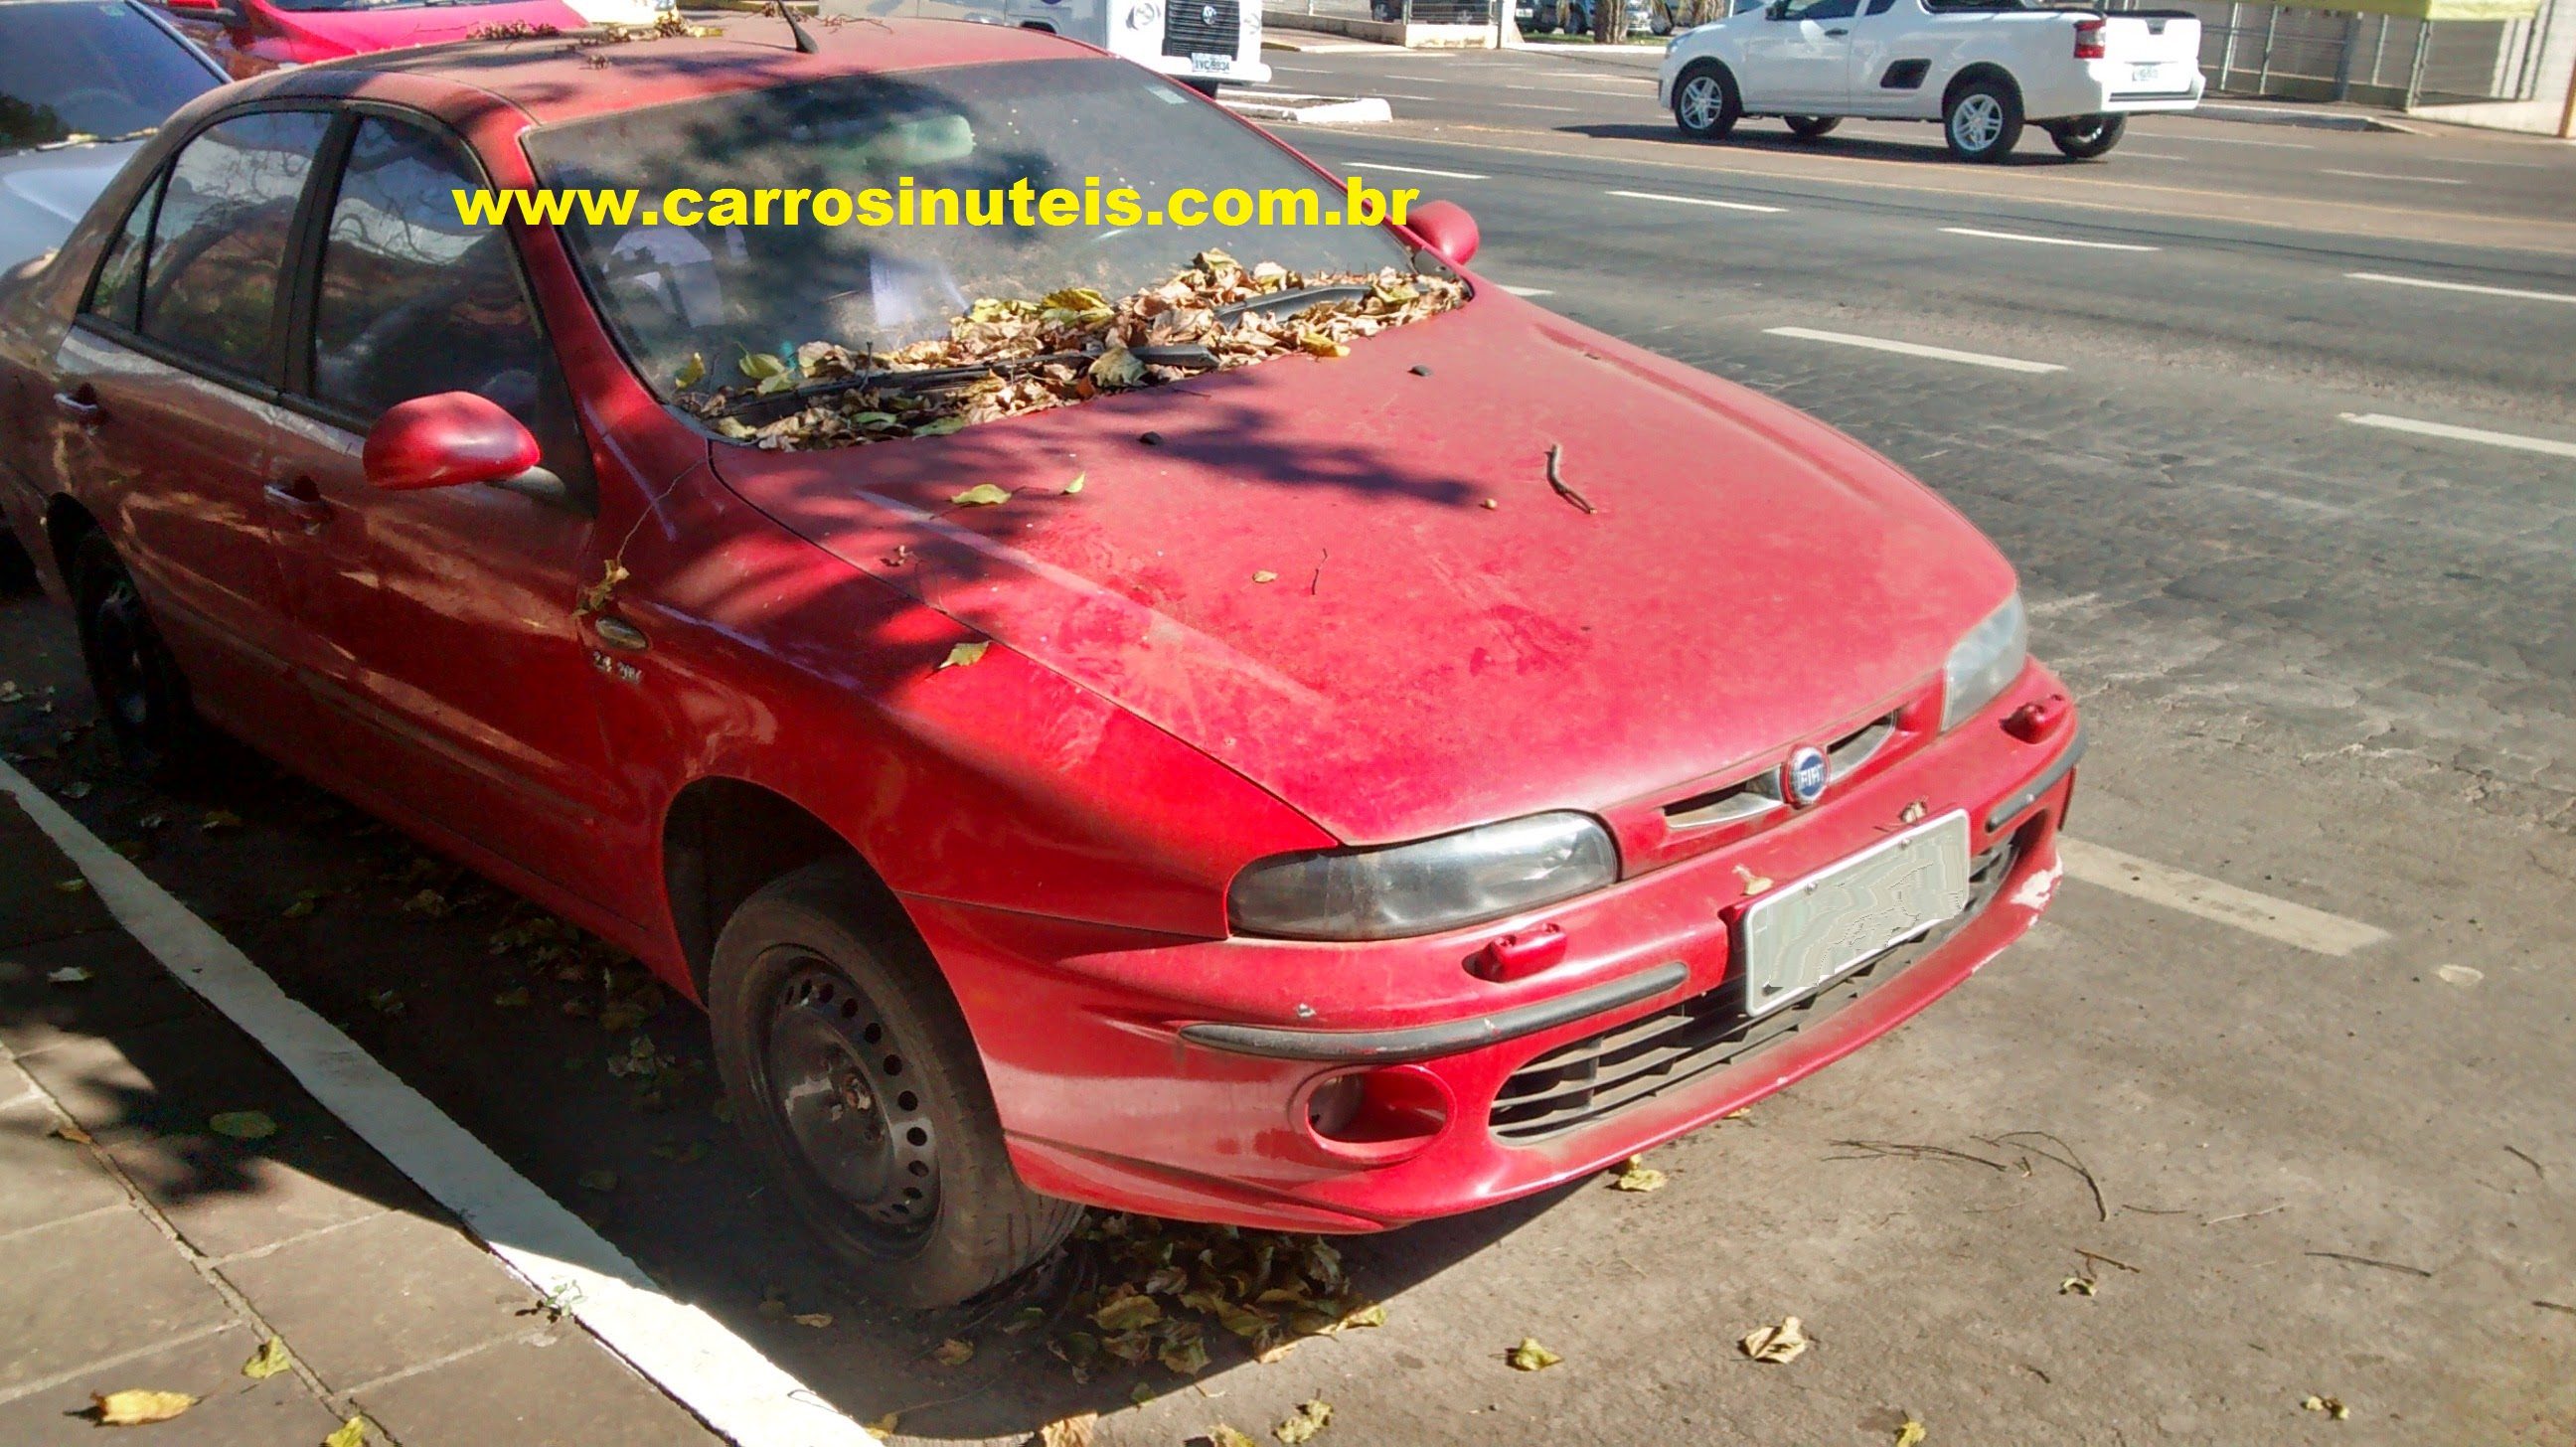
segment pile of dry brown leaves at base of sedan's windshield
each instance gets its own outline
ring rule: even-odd
[[[1301,296],[1319,288],[1332,294]],[[1275,299],[1275,306],[1265,309],[1265,299]],[[1133,391],[1288,353],[1337,358],[1358,337],[1435,317],[1461,301],[1466,283],[1453,278],[1406,275],[1396,268],[1247,268],[1211,250],[1198,252],[1172,281],[1118,301],[1087,286],[1041,301],[984,299],[953,319],[945,337],[894,353],[806,342],[793,358],[742,353],[734,363],[739,384],[706,386],[703,358],[690,358],[672,381],[680,402],[726,438],[773,451],[850,448],[956,433],[971,422],[1046,412],[1103,391]],[[778,404],[760,407],[773,397],[778,404],[804,404],[775,417]],[[762,420],[744,420],[742,412]]]

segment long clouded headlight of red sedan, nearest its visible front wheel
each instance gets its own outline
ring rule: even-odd
[[[1278,855],[1234,875],[1244,935],[1396,940],[1499,919],[1618,878],[1618,847],[1589,814],[1533,814],[1376,850]]]

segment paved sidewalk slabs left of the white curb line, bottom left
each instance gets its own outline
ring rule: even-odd
[[[291,1367],[245,1375],[270,1336]],[[0,1442],[93,1442],[116,1390],[198,1398],[147,1429],[165,1447],[317,1444],[353,1416],[404,1447],[719,1442],[178,984],[0,793]]]

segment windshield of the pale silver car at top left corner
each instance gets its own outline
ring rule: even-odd
[[[216,85],[124,0],[0,5],[0,149],[149,131]]]

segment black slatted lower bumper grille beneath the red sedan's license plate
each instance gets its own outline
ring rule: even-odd
[[[2004,875],[2012,873],[2012,845],[2004,842],[1976,857],[1968,870],[1968,909],[1935,924],[1927,935],[1880,950],[1798,1004],[1783,1004],[1759,1020],[1747,1020],[1744,978],[1736,976],[1672,1009],[1558,1045],[1520,1066],[1512,1079],[1502,1081],[1486,1117],[1494,1138],[1512,1146],[1579,1130],[1708,1071],[1747,1061],[1826,1020],[1904,973],[1906,966],[1984,914],[1994,904],[1994,893],[2004,888]]]

